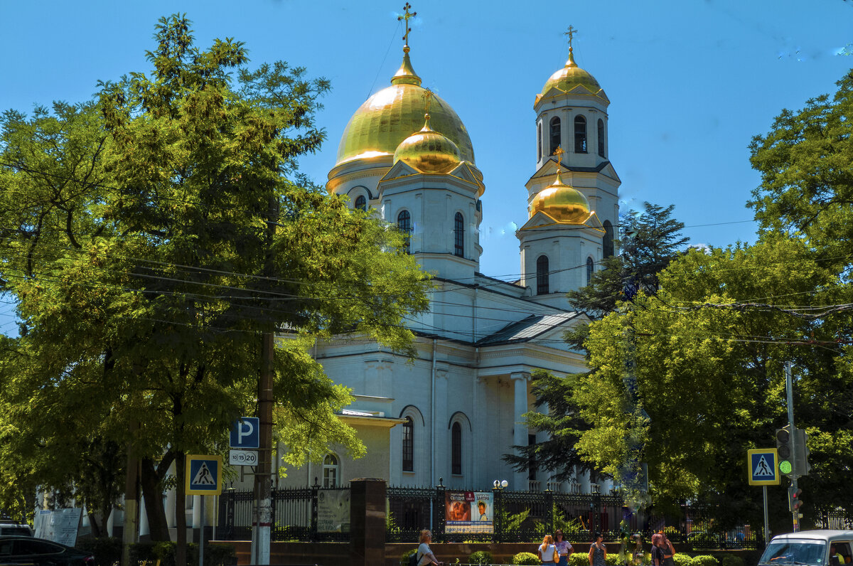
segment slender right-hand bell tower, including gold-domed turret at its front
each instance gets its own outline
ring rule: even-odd
[[[569,57],[537,94],[537,171],[527,181],[529,219],[517,232],[521,284],[532,300],[566,308],[566,292],[589,283],[615,253],[621,181],[608,155],[610,99],[577,66],[569,26]]]

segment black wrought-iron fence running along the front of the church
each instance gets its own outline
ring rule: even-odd
[[[470,492],[490,494],[490,530],[452,533],[445,528],[450,516],[448,492],[441,485],[387,487],[386,540],[415,542],[421,529],[431,528],[436,542],[533,542],[561,528],[572,543],[589,542],[595,531],[605,540],[641,533],[648,541],[653,533],[665,529],[673,543],[693,551],[763,547],[760,527],[716,528],[715,522],[707,519],[708,510],[699,505],[682,505],[677,517],[634,513],[624,507],[618,493],[515,492],[501,488]],[[251,540],[253,503],[251,491],[225,490],[219,499],[218,538]],[[272,540],[350,540],[349,487],[275,489],[272,503]],[[837,508],[818,511],[815,528],[853,530],[853,513]]]

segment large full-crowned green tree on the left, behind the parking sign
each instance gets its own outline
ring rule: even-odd
[[[88,143],[84,153],[103,176],[77,195],[78,224],[24,236],[32,214],[16,195],[81,176],[44,174],[65,162],[61,149],[22,137],[3,148],[3,213],[13,222],[0,225],[15,227],[3,241],[3,280],[26,326],[21,349],[44,367],[20,379],[20,394],[92,396],[68,417],[91,411],[106,439],[142,458],[152,534],[163,538],[167,470],[176,464],[181,500],[183,455],[221,449],[229,424],[251,411],[264,332],[281,336],[274,390],[287,462],[317,458],[331,442],[362,452],[335,416],[349,392],[307,347],[352,334],[410,352],[402,318],[427,307],[427,280],[396,230],[299,176],[299,155],[324,137],[314,113],[326,81],[281,61],[249,71],[233,39],[199,50],[183,16],[160,20],[156,45],[150,76],[102,85],[103,149]],[[10,115],[6,125],[44,117]],[[49,194],[38,206],[48,219],[64,212]],[[72,235],[79,247],[67,245]]]

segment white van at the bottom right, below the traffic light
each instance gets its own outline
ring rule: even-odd
[[[758,564],[767,566],[853,566],[853,531],[800,531],[770,540]]]

